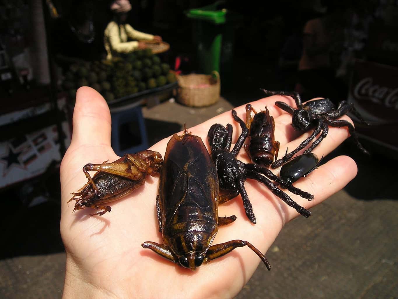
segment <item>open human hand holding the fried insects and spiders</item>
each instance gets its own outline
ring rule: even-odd
[[[251,102],[256,110],[269,109],[275,118],[275,139],[281,143],[280,152],[286,147],[296,148],[309,136],[300,135],[291,126],[291,115],[274,105],[284,101],[294,106],[288,96],[270,96]],[[245,105],[236,108],[244,119]],[[347,116],[343,119],[349,120]],[[188,131],[200,136],[209,149],[207,132],[215,123],[232,124],[233,141],[241,129],[232,119],[231,112],[220,114]],[[179,135],[181,132],[179,133]],[[329,128],[328,138],[314,149],[319,157],[327,155],[349,136],[345,128]],[[150,149],[163,156],[170,137],[161,140]],[[60,230],[66,249],[66,277],[64,298],[232,298],[256,270],[260,259],[250,248],[237,248],[232,253],[204,264],[195,272],[158,256],[141,247],[142,242],[163,243],[158,232],[156,195],[158,177],[148,177],[146,183],[118,201],[110,203],[111,213],[103,216],[90,208],[78,210],[67,206],[71,193],[82,187],[87,179],[82,171],[86,163],[114,161],[119,157],[111,148],[111,117],[107,103],[90,87],[82,87],[76,94],[73,115],[72,142],[62,159],[61,191],[62,214]],[[249,162],[244,149],[238,159]],[[276,169],[275,171],[278,171]],[[336,157],[319,169],[300,179],[295,186],[315,196],[307,201],[287,192],[299,205],[310,209],[343,188],[353,177],[357,167],[347,156]],[[219,229],[213,245],[230,240],[246,240],[265,253],[283,225],[299,214],[275,197],[257,181],[245,182],[249,199],[257,217],[252,224],[243,209],[240,196],[219,207],[219,216],[235,214],[237,220]],[[306,219],[312,221],[312,218]],[[265,254],[265,256],[267,256]],[[273,268],[276,261],[269,261]],[[260,267],[265,266],[260,264]],[[271,270],[272,271],[272,270]],[[265,271],[267,275],[268,271]]]

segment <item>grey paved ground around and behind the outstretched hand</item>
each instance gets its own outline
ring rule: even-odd
[[[193,126],[252,99],[234,95],[209,108],[172,101],[144,108],[148,132],[156,132],[150,142],[181,130],[184,122]],[[331,155],[342,153],[357,161],[358,176],[312,209],[309,219],[286,225],[267,252],[272,271],[260,265],[237,298],[397,297],[398,163],[356,156],[349,144]],[[0,297],[60,298],[65,254],[59,205],[50,201],[27,209],[12,201],[12,193],[2,195],[10,201],[2,213]]]

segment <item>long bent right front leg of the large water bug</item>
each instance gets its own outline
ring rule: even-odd
[[[235,248],[243,247],[243,246],[248,246],[251,250],[253,250],[258,255],[258,257],[261,258],[261,260],[265,264],[265,267],[267,267],[268,271],[271,270],[271,266],[269,265],[267,258],[265,258],[265,256],[261,253],[261,251],[259,251],[256,247],[254,247],[249,242],[242,241],[242,240],[232,240],[232,241],[228,241],[228,242],[210,246],[209,250],[207,250],[207,252],[206,252],[206,257],[203,262],[208,263],[211,260],[214,260],[216,258],[219,258],[220,256],[230,253]]]

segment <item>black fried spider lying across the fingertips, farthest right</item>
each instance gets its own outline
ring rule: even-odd
[[[289,161],[296,153],[298,153],[301,149],[308,146],[308,144],[313,140],[318,134],[320,136],[312,142],[311,146],[307,148],[304,153],[310,153],[320,142],[328,135],[328,126],[332,127],[348,127],[349,133],[353,137],[355,144],[363,151],[363,153],[369,154],[369,152],[363,148],[363,146],[359,143],[357,133],[355,132],[354,126],[348,122],[347,120],[338,120],[341,116],[351,112],[354,114],[363,124],[369,125],[359,112],[355,109],[352,103],[347,103],[346,101],[341,101],[336,109],[336,106],[332,103],[328,98],[322,98],[320,100],[313,100],[302,104],[300,95],[297,92],[287,92],[287,91],[269,91],[263,89],[265,94],[268,96],[272,95],[282,95],[282,96],[291,96],[294,98],[297,108],[295,109],[285,102],[275,102],[275,105],[279,108],[289,112],[293,115],[292,117],[292,126],[295,130],[298,131],[308,131],[310,128],[315,127],[314,132],[300,145],[290,153],[287,153],[281,159],[273,162],[271,164],[272,168],[277,168],[281,166],[286,161]]]

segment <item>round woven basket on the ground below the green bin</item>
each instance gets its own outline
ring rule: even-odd
[[[189,74],[177,76],[178,102],[191,107],[210,106],[220,98],[220,75]]]

